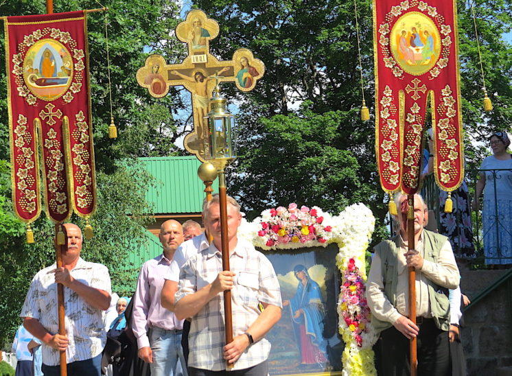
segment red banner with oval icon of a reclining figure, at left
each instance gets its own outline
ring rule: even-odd
[[[49,218],[87,218],[96,184],[86,15],[10,16],[5,46],[14,211],[38,218],[40,148]]]

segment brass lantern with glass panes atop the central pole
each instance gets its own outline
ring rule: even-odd
[[[220,94],[217,79],[213,95],[210,99],[210,112],[203,118],[208,124],[208,143],[205,150],[206,159],[217,169],[222,170],[231,163],[236,155],[235,117],[226,109],[226,98]]]

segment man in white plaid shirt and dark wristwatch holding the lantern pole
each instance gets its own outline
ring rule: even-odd
[[[227,202],[231,270],[222,271],[220,204],[213,196],[202,211],[213,242],[181,269],[174,312],[178,318],[192,318],[189,375],[223,375],[227,362],[233,364],[233,375],[265,376],[270,342],[264,336],[281,318],[279,281],[270,261],[252,244],[237,239],[240,205],[229,196]],[[233,311],[234,338],[229,344],[224,343],[224,290],[231,290]]]

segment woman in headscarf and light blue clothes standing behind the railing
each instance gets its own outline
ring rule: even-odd
[[[484,255],[487,265],[512,264],[512,154],[507,132],[489,137],[493,155],[480,166],[473,209],[484,193],[482,210]]]

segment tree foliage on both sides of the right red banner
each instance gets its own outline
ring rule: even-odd
[[[482,80],[469,5],[474,3],[487,90],[495,109],[482,109]],[[228,58],[240,47],[266,64],[248,95],[223,89],[240,106],[240,158],[231,193],[250,217],[269,205],[318,204],[337,213],[364,202],[377,218],[373,242],[387,236],[386,201],[375,165],[375,121],[362,122],[353,2],[340,0],[198,0],[220,23],[210,48]],[[371,1],[357,2],[366,104],[373,108]],[[463,121],[469,167],[478,167],[493,130],[509,128],[511,1],[458,1]],[[474,143],[477,141],[477,143]]]

